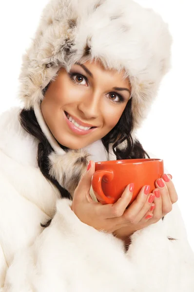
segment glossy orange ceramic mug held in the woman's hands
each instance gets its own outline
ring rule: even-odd
[[[150,185],[150,193],[155,189],[155,181],[164,174],[161,159],[126,159],[95,163],[92,188],[97,201],[102,204],[115,203],[129,183],[134,183],[130,204],[136,199],[144,185]]]

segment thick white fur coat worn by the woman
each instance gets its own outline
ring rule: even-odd
[[[125,253],[120,239],[82,223],[46,181],[38,141],[21,128],[18,111],[0,117],[0,292],[194,292],[194,254],[177,203],[135,232]]]

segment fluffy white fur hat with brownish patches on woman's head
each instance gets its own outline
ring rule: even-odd
[[[19,98],[25,109],[35,107],[61,66],[98,58],[129,76],[135,134],[169,70],[171,44],[162,18],[132,0],[51,0],[23,55]]]

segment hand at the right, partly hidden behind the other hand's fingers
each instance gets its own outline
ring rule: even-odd
[[[160,179],[155,181],[156,189],[153,191],[155,194],[154,202],[150,211],[153,212],[153,217],[147,221],[147,226],[158,222],[162,217],[172,211],[172,205],[178,200],[178,196],[175,190],[174,183],[172,182],[172,176],[170,174],[163,174]],[[126,211],[127,212],[127,209]],[[139,221],[137,230],[145,228],[145,222]],[[137,231],[136,230],[136,231]],[[123,240],[127,239],[133,232],[126,226],[117,229],[114,235]]]

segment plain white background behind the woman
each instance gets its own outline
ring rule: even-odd
[[[138,131],[143,147],[164,160],[194,250],[194,17],[192,0],[137,0],[169,23],[172,70],[162,81],[149,117]],[[0,2],[0,112],[17,100],[21,55],[47,0]]]

